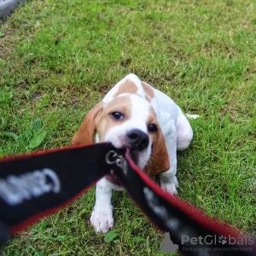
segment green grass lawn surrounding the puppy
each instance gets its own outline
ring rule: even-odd
[[[201,115],[178,154],[179,196],[255,236],[255,14],[250,0],[28,1],[0,21],[0,155],[69,145],[84,114],[137,73]],[[2,254],[160,255],[162,234],[125,193],[113,193],[112,241],[90,227],[94,201],[90,189]]]

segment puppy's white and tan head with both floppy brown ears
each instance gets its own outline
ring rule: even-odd
[[[137,165],[154,176],[169,169],[166,143],[154,108],[142,96],[121,94],[90,109],[73,137],[73,145],[99,142],[131,148]]]

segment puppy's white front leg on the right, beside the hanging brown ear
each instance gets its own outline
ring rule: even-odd
[[[168,121],[169,124],[172,120]],[[177,130],[172,122],[168,128],[169,133],[165,136],[166,148],[169,154],[170,169],[160,173],[160,186],[171,194],[177,194]]]

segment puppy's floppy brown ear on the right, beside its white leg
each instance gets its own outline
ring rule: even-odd
[[[158,125],[156,139],[153,144],[150,160],[145,167],[149,176],[155,176],[160,172],[166,172],[170,168],[169,155],[166,148],[165,138]]]

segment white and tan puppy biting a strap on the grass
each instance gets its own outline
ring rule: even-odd
[[[137,166],[148,176],[160,174],[160,186],[177,194],[177,150],[189,147],[193,131],[181,109],[160,90],[129,74],[84,117],[73,145],[112,143],[131,148]],[[113,227],[112,189],[123,189],[109,174],[96,183],[96,204],[90,217],[95,230]]]

